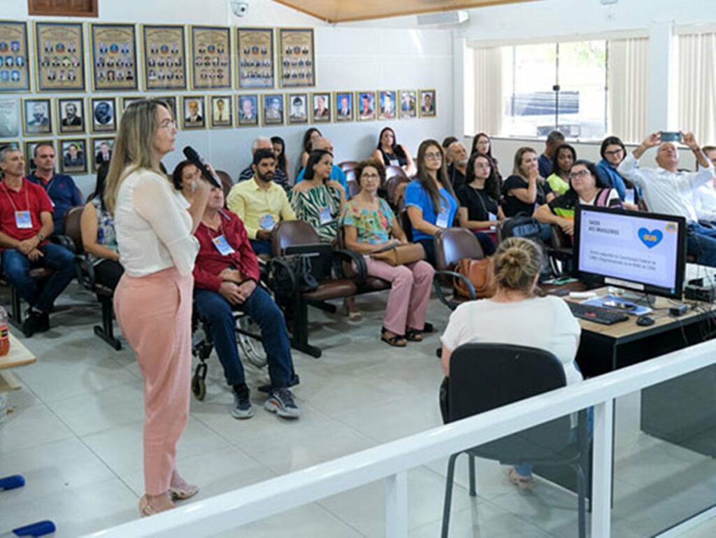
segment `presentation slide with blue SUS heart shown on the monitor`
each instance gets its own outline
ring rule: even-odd
[[[673,289],[678,226],[677,222],[583,211],[579,269]]]

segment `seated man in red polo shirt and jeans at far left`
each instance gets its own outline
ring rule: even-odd
[[[0,151],[0,247],[7,282],[30,305],[22,332],[31,337],[49,329],[54,299],[74,278],[74,254],[52,244],[52,201],[44,188],[24,178],[25,159],[16,148]],[[53,269],[49,279],[38,283],[31,267]]]

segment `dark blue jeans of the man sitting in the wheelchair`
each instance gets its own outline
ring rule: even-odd
[[[236,324],[232,311],[246,312],[261,328],[263,349],[269,362],[269,377],[274,388],[288,387],[294,363],[291,359],[291,344],[286,332],[286,320],[274,299],[266,290],[256,287],[243,304],[230,304],[223,295],[208,289],[194,292],[196,309],[208,320],[211,338],[216,347],[221,365],[229,385],[246,383],[243,365],[238,357]]]

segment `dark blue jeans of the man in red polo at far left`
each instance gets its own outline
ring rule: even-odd
[[[74,278],[74,254],[64,246],[53,243],[39,246],[38,249],[43,256],[32,262],[19,250],[7,249],[2,253],[2,266],[8,282],[15,287],[20,297],[31,307],[47,314],[52,310],[54,299]],[[30,277],[30,269],[35,267],[54,269],[54,273],[46,281],[37,282]]]

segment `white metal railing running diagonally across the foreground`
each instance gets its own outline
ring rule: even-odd
[[[594,406],[591,536],[609,537],[614,398],[710,365],[716,365],[716,340],[88,536],[208,537],[385,479],[386,536],[406,538],[407,471]]]

